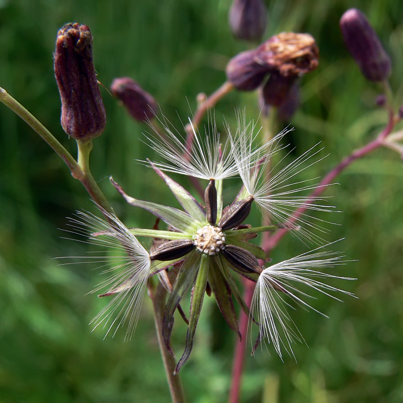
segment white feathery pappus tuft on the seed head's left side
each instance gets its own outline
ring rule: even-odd
[[[98,208],[100,208],[98,206]],[[147,279],[150,274],[150,255],[137,238],[113,214],[100,208],[109,220],[90,213],[76,212],[69,218],[67,231],[88,237],[81,241],[107,247],[107,251],[97,252],[95,256],[73,257],[77,263],[95,263],[108,277],[91,291],[100,293],[99,297],[112,296],[111,301],[91,320],[93,329],[101,324],[112,330],[113,335],[119,327],[127,323],[125,340],[130,339],[136,328]]]

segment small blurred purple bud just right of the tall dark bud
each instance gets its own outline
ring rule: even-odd
[[[157,103],[154,98],[130,77],[115,78],[110,89],[136,120],[147,122],[155,116]]]

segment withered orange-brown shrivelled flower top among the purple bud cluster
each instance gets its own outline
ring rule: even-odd
[[[319,48],[310,34],[282,32],[258,47],[257,61],[287,77],[315,70],[318,56]]]

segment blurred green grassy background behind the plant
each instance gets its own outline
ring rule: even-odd
[[[391,86],[403,104],[403,2],[396,0],[270,0],[265,38],[280,31],[311,33],[320,48],[319,68],[302,80],[302,105],[286,141],[299,155],[321,141],[330,153],[310,168],[322,176],[386,122],[374,107],[381,89],[361,76],[345,50],[339,18],[347,8],[368,15],[393,60]],[[231,0],[0,0],[0,85],[75,153],[62,131],[52,52],[66,22],[89,25],[99,80],[129,75],[154,95],[162,112],[181,127],[195,97],[225,81],[229,58],[250,45],[231,37]],[[128,226],[152,226],[151,214],[123,203],[108,182],[112,174],[135,197],[177,206],[162,181],[136,158],[153,157],[136,123],[101,89],[108,115],[94,141],[92,172]],[[190,109],[189,109],[189,105]],[[215,108],[235,124],[235,109],[257,118],[256,93],[233,92]],[[279,127],[280,129],[280,127]],[[80,256],[86,245],[63,239],[66,217],[94,211],[81,184],[50,147],[0,105],[0,402],[170,401],[156,342],[150,301],[145,298],[133,339],[124,332],[103,340],[89,321],[106,303],[87,295],[98,272],[87,265],[58,266],[58,256]],[[177,178],[185,183],[183,178]],[[343,213],[321,218],[332,226],[328,241],[348,263],[337,273],[356,277],[338,284],[359,299],[344,303],[320,295],[312,303],[329,318],[297,308],[292,318],[307,346],[294,347],[297,362],[270,349],[247,353],[242,402],[403,401],[403,166],[379,150],[357,161],[326,191]],[[230,188],[227,202],[236,192]],[[251,218],[257,220],[258,218]],[[307,251],[286,237],[274,262]],[[186,305],[186,304],[185,304]],[[176,320],[173,345],[181,353],[186,328]],[[193,353],[181,375],[189,402],[225,402],[235,334],[206,298]],[[249,342],[248,342],[249,344]],[[247,347],[250,351],[250,347]]]

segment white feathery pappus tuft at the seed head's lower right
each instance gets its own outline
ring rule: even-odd
[[[325,279],[355,280],[354,278],[315,270],[333,268],[348,262],[342,260],[344,256],[341,256],[339,252],[319,250],[328,245],[266,267],[258,278],[253,293],[251,312],[254,312],[259,322],[262,341],[271,343],[280,357],[282,347],[293,355],[291,344],[295,341],[303,341],[303,337],[287,312],[287,305],[291,307],[290,303],[294,301],[304,308],[310,308],[322,314],[303,300],[304,297],[314,298],[307,293],[307,289],[316,290],[338,301],[341,300],[334,296],[334,293],[354,296],[349,291],[324,283]]]

